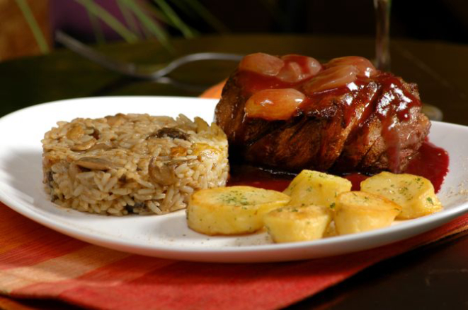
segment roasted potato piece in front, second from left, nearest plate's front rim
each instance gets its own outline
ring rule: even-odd
[[[322,205],[284,207],[263,217],[274,242],[299,242],[320,239],[332,219],[332,211]]]

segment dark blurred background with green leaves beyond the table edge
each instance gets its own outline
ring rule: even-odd
[[[77,39],[156,40],[211,34],[375,35],[372,0],[0,0],[0,61]],[[393,0],[391,37],[468,43],[467,0]]]

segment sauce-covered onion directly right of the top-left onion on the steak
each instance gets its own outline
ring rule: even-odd
[[[312,57],[290,54],[282,56],[281,59],[285,61],[285,66],[276,77],[283,82],[297,83],[321,71],[321,64]]]

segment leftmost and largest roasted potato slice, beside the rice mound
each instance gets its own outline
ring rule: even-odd
[[[247,234],[263,227],[263,215],[289,201],[279,191],[251,186],[202,189],[190,197],[187,223],[202,234]]]

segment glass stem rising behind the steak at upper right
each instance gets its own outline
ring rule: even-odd
[[[375,57],[377,69],[390,71],[390,8],[392,0],[374,0],[376,33]]]

